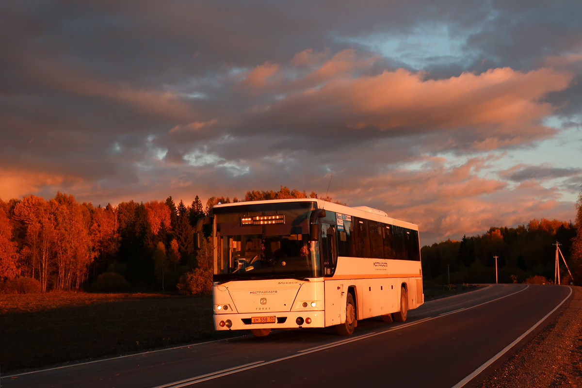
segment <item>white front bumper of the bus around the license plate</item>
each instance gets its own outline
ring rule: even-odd
[[[275,317],[275,323],[252,323],[253,318]],[[299,319],[301,318],[301,319]],[[309,319],[307,319],[309,318]],[[311,320],[311,323],[307,323]],[[230,328],[228,324],[232,323]],[[221,326],[224,322],[224,326]],[[299,324],[300,322],[301,325]],[[324,328],[324,311],[261,312],[250,314],[214,314],[215,330],[250,330],[250,329],[297,329]]]

